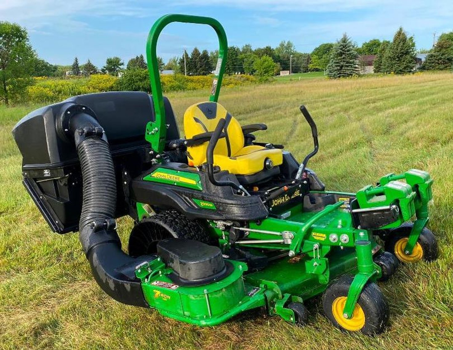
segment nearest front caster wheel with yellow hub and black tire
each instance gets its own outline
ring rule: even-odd
[[[347,293],[353,277],[334,282],[323,294],[323,310],[333,325],[342,331],[360,331],[366,335],[382,333],[389,320],[389,306],[376,283],[367,282],[360,293],[352,317],[343,316]]]

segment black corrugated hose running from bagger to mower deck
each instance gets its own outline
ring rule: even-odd
[[[99,286],[125,304],[149,307],[135,267],[145,261],[121,250],[116,233],[115,168],[102,127],[79,113],[71,119],[71,132],[82,169],[83,203],[79,221],[80,242]]]

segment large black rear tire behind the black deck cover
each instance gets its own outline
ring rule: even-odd
[[[200,220],[189,220],[176,210],[165,210],[140,220],[129,236],[129,255],[138,257],[157,252],[157,243],[165,238],[193,239],[212,243]]]

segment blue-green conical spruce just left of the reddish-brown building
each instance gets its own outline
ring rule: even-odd
[[[329,78],[344,78],[359,73],[357,49],[352,40],[345,34],[333,46],[330,61],[327,65]]]

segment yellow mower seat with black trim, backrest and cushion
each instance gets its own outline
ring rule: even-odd
[[[280,149],[269,149],[263,146],[244,145],[244,134],[241,125],[226,109],[217,102],[196,103],[184,113],[184,133],[187,139],[205,132],[214,131],[219,120],[225,118],[225,137],[219,139],[214,149],[214,165],[231,174],[251,175],[265,167],[265,160],[272,160],[274,166],[283,162]],[[195,166],[206,162],[208,142],[198,146],[189,146],[188,163]]]

